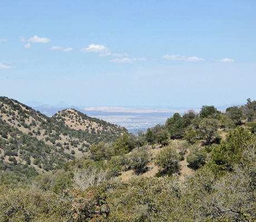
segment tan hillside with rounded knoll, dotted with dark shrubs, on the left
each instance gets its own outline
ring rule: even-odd
[[[12,172],[8,174],[12,179],[26,180],[82,157],[93,143],[114,142],[125,132],[73,109],[49,118],[17,100],[0,97],[0,170]]]

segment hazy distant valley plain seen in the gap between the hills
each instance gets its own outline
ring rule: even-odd
[[[89,117],[95,117],[125,127],[130,133],[137,133],[140,130],[146,130],[157,124],[165,124],[166,119],[173,116],[174,113],[183,115],[189,109],[160,109],[160,108],[120,108],[120,107],[89,107],[78,108],[69,107],[51,107],[50,105],[41,105],[32,108],[40,111],[42,114],[51,117],[58,111],[65,108],[76,109]],[[196,113],[200,109],[194,109]]]

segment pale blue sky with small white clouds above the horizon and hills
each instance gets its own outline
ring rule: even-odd
[[[256,99],[255,0],[0,0],[0,95],[80,107]]]

